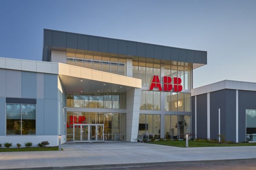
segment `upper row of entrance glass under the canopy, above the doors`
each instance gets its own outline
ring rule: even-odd
[[[74,108],[126,108],[125,93],[67,94],[67,107]]]

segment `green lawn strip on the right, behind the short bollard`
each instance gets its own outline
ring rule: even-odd
[[[154,141],[150,144],[163,144],[168,146],[185,147],[186,141]],[[189,141],[189,147],[217,147],[217,146],[256,146],[256,143],[219,144],[209,142]]]

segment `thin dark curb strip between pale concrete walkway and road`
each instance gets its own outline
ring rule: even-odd
[[[127,168],[127,167],[151,167],[172,164],[206,164],[215,162],[239,162],[239,161],[256,161],[256,158],[246,159],[216,159],[216,160],[200,160],[200,161],[165,161],[151,163],[130,163],[130,164],[99,164],[99,165],[81,165],[81,166],[65,166],[65,167],[29,167],[29,168],[8,168],[6,170],[100,170],[106,168]]]

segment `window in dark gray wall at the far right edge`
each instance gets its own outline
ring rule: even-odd
[[[246,110],[246,140],[256,142],[256,110]]]

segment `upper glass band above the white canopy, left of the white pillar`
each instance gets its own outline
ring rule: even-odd
[[[66,53],[67,64],[108,73],[126,75],[126,59]]]

